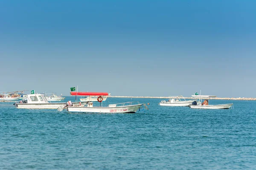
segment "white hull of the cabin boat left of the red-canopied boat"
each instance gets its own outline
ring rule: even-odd
[[[74,105],[79,105],[79,102],[73,102]],[[81,105],[85,105],[81,102]],[[60,106],[66,106],[66,103],[15,103],[17,108],[23,109],[57,109]]]

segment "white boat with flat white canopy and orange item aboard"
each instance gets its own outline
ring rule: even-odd
[[[201,92],[200,92],[201,93]],[[192,96],[207,96],[207,95],[192,95]],[[212,99],[216,96],[209,96],[209,97],[201,97],[198,102],[193,102],[189,105],[189,108],[192,109],[229,109],[233,106],[233,103],[229,104],[222,104],[222,105],[209,105],[209,99]],[[204,102],[202,102],[202,98],[204,98]],[[208,99],[207,99],[208,98]]]

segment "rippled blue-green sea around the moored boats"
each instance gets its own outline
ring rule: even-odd
[[[67,100],[74,99],[68,96]],[[85,114],[17,109],[0,102],[0,169],[256,169],[256,101],[234,109],[163,107]]]

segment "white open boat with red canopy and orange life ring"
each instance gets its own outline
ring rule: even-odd
[[[100,102],[100,107],[93,107],[93,102],[87,102],[86,105],[73,106],[71,104],[71,105],[67,105],[66,107],[60,107],[58,108],[59,111],[62,111],[64,108],[67,108],[68,112],[80,112],[80,113],[135,113],[141,108],[141,106],[143,106],[143,104],[140,104],[139,102],[137,103],[125,102],[125,103],[111,104],[111,105],[108,105],[108,107],[102,107],[102,103],[101,103],[103,101],[102,96],[108,96],[108,93],[70,92],[70,94],[78,95],[78,96],[98,96],[97,101]]]

